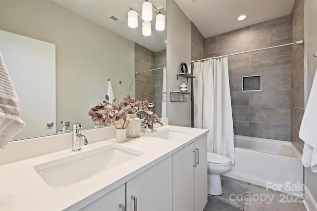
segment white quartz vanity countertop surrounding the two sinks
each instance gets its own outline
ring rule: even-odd
[[[207,129],[177,126],[159,127],[157,132],[166,129],[187,130],[190,133],[176,140],[166,140],[149,136],[153,133],[148,131],[141,133],[138,138],[127,139],[124,143],[116,143],[113,138],[82,146],[79,152],[67,149],[2,165],[0,166],[0,210],[48,211],[67,208],[78,210],[208,133]],[[39,164],[111,144],[128,147],[144,154],[63,189],[52,189],[33,169]],[[86,199],[85,202],[78,203],[83,199]]]

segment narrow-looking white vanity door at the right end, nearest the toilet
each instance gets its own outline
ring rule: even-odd
[[[203,211],[207,204],[207,135],[195,141],[197,167],[195,168],[195,211]]]

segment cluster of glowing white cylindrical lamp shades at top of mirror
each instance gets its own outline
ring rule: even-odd
[[[161,6],[164,8],[163,6]],[[154,9],[153,9],[154,8]],[[160,9],[157,9],[151,2],[146,0],[142,4],[142,12],[136,12],[134,9],[129,7],[130,11],[128,12],[128,26],[130,28],[136,28],[138,27],[138,16],[140,16],[143,20],[145,20],[142,23],[142,34],[144,36],[150,36],[151,35],[151,20],[153,18],[153,12],[159,13],[156,16],[156,24],[155,28],[158,31],[163,31],[165,29],[165,15],[164,12],[160,11]],[[166,11],[164,9],[164,11]],[[142,15],[140,15],[142,13]],[[146,22],[146,23],[145,23]],[[148,22],[148,23],[147,23]]]

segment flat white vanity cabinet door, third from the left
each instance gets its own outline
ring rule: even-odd
[[[194,143],[172,155],[173,211],[194,211]]]

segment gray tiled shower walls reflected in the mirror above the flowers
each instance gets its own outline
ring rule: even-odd
[[[159,67],[166,67],[166,50],[153,52],[135,42],[134,71],[142,72]],[[155,101],[153,112],[161,116],[163,70],[138,74],[135,77],[135,99]]]

